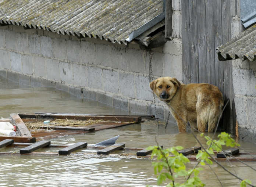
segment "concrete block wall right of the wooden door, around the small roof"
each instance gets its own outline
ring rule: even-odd
[[[235,37],[244,28],[241,26],[240,1],[237,1],[237,6],[235,0],[232,2],[231,35]],[[256,62],[232,60],[232,76],[239,137],[256,143]]]

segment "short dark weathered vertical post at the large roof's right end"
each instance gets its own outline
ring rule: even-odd
[[[170,38],[173,35],[173,7],[172,0],[166,0],[166,17],[165,17],[165,37]]]

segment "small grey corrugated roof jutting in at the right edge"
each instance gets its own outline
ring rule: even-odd
[[[240,58],[241,60],[256,60],[256,25],[232,38],[226,44],[217,48],[220,61]]]

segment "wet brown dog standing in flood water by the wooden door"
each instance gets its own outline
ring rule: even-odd
[[[154,94],[164,101],[191,124],[191,128],[213,132],[223,107],[223,96],[220,90],[211,84],[181,84],[171,77],[158,78],[150,83]],[[179,132],[186,132],[186,124],[171,109],[177,121]]]

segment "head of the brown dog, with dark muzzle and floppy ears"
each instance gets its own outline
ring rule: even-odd
[[[156,94],[161,101],[168,102],[173,98],[177,89],[181,86],[181,83],[175,78],[161,77],[153,80],[149,85],[154,94]]]

